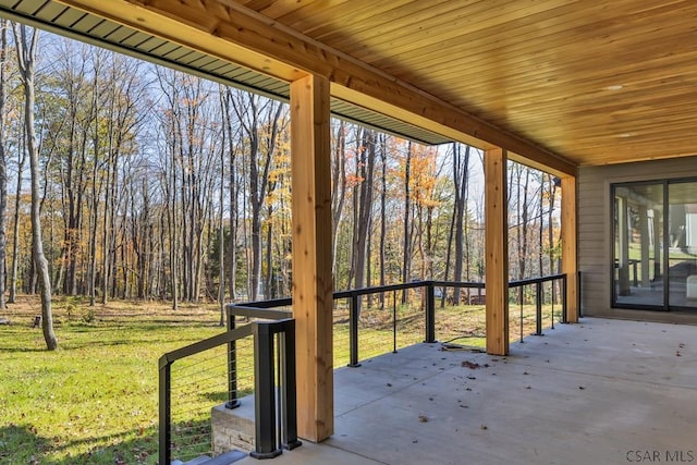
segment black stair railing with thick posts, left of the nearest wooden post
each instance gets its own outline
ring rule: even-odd
[[[224,401],[225,408],[241,405],[241,394],[250,392],[240,386],[241,358],[254,362],[254,451],[256,458],[271,458],[283,449],[294,449],[297,440],[295,391],[295,320],[288,311],[266,310],[253,307],[229,308],[229,327],[224,333],[169,352],[159,360],[159,463],[197,458],[212,452],[211,408]],[[234,313],[264,320],[249,321],[235,327]],[[240,357],[239,345],[252,341],[253,355]],[[225,356],[227,353],[227,356]],[[184,360],[195,360],[185,364]],[[179,372],[180,365],[194,367]],[[222,369],[221,369],[222,367]],[[179,382],[175,386],[176,381]],[[222,380],[222,381],[221,381]],[[223,387],[222,392],[220,387]],[[173,396],[178,392],[207,396],[206,413],[191,399],[179,397],[178,418]],[[221,399],[224,397],[224,399]],[[200,401],[200,400],[198,400]],[[212,455],[212,453],[211,453]]]

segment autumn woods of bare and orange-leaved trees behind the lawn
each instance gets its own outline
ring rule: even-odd
[[[33,48],[17,45],[38,33],[2,30],[0,281],[9,303],[39,289],[91,305],[166,299],[173,308],[290,295],[286,103],[48,33],[32,86]],[[331,136],[335,289],[482,280],[480,150],[426,147],[340,120]],[[510,162],[509,193],[511,278],[555,271],[554,179]]]

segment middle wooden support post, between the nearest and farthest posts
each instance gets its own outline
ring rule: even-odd
[[[487,353],[509,353],[509,222],[506,194],[506,151],[485,155],[485,228]]]

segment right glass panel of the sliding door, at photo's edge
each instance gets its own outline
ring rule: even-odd
[[[697,308],[697,182],[668,185],[669,306]]]

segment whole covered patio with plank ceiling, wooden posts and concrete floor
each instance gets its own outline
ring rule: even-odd
[[[509,346],[505,208],[509,160],[559,178],[568,322],[580,310],[697,322],[689,311],[617,311],[611,302],[612,185],[697,179],[694,1],[0,0],[0,8],[290,101],[305,445],[278,463],[697,456],[696,327],[587,318]],[[488,354],[421,344],[334,371],[332,115],[484,150]]]

